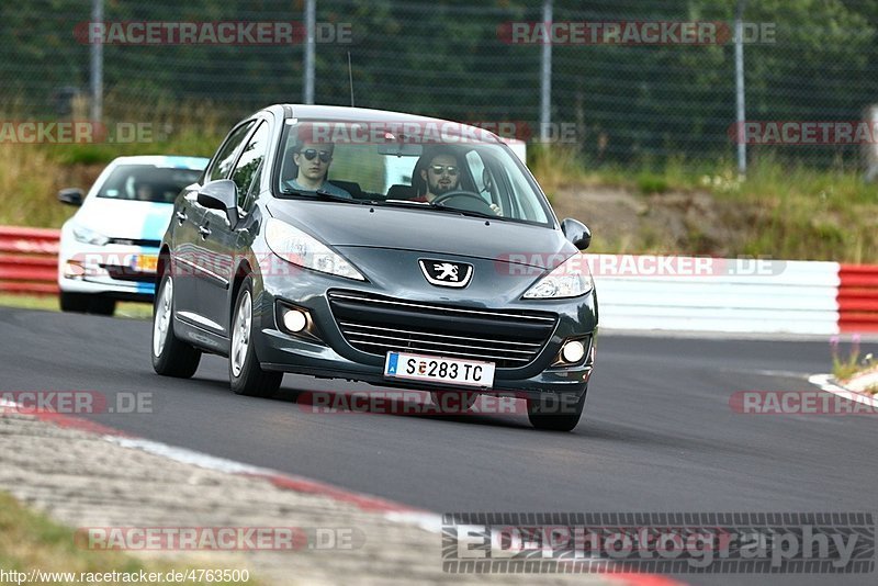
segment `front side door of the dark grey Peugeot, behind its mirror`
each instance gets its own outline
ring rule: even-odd
[[[204,238],[202,244],[211,257],[216,259],[216,272],[222,279],[205,278],[202,281],[201,307],[211,320],[224,327],[226,334],[230,323],[233,302],[229,298],[230,283],[234,281],[237,259],[240,258],[240,255],[246,253],[244,237],[239,228],[246,225],[247,196],[254,184],[259,184],[259,173],[268,153],[270,136],[269,123],[259,121],[244,148],[240,149],[238,160],[232,170],[229,178],[235,182],[238,195],[239,221],[237,225],[229,225],[223,211],[206,210],[204,214],[204,225],[210,229],[210,235]]]

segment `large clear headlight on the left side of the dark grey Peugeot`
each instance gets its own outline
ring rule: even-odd
[[[280,219],[270,217],[266,222],[266,243],[272,252],[293,264],[346,279],[365,281],[365,277],[360,274],[360,271],[345,257],[313,236]]]

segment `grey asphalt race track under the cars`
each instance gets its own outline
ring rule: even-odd
[[[149,328],[0,308],[0,391],[151,392],[153,413],[90,417],[437,512],[878,509],[874,416],[744,415],[729,404],[736,391],[812,390],[807,376],[830,370],[828,342],[601,335],[586,415],[553,433],[526,415],[316,414],[297,403],[296,390],[375,390],[341,381],[286,375],[279,398],[239,397],[216,357],[192,380],[159,377]],[[683,579],[874,584],[875,574]]]

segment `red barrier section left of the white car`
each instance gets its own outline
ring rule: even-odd
[[[0,292],[58,292],[59,230],[0,226]]]

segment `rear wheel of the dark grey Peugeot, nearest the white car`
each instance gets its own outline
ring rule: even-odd
[[[199,370],[201,350],[173,335],[173,279],[161,275],[153,305],[153,370],[162,376],[189,379]]]

